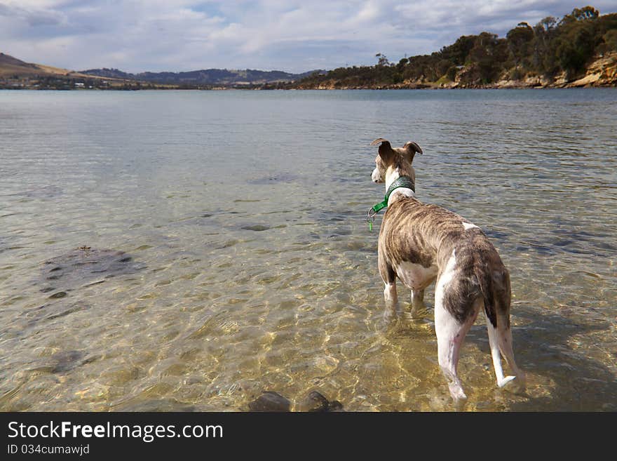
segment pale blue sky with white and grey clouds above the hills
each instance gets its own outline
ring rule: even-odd
[[[304,72],[503,36],[588,3],[617,12],[615,0],[0,0],[0,51],[74,70]]]

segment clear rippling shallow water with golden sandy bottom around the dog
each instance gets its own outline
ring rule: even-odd
[[[613,89],[0,92],[0,410],[452,410],[433,290],[381,320],[379,137],[510,269],[528,389],[479,320],[466,409],[617,410],[616,120]]]

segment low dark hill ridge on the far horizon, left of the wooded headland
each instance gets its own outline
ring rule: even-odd
[[[168,85],[216,85],[216,86],[239,86],[239,85],[263,85],[283,81],[296,81],[313,74],[311,71],[302,74],[290,74],[280,70],[228,70],[228,69],[201,69],[189,72],[140,72],[130,74],[118,69],[88,69],[81,71],[82,74],[100,76],[115,79],[131,79]]]

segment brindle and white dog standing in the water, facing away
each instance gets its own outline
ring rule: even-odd
[[[394,189],[379,232],[379,274],[386,288],[386,318],[400,314],[396,279],[412,290],[412,315],[425,309],[424,289],[435,284],[438,360],[456,403],[467,399],[456,374],[463,339],[484,307],[497,385],[520,392],[524,373],[516,366],[510,332],[510,274],[487,236],[468,220],[440,206],[421,203],[412,190],[412,161],[422,149],[415,142],[392,148],[383,138],[372,173],[374,182],[409,178]],[[407,180],[399,180],[405,185]],[[387,194],[387,192],[386,192]],[[501,356],[514,376],[503,376]]]

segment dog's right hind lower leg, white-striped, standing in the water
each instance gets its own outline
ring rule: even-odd
[[[516,366],[514,361],[514,351],[512,349],[512,330],[506,326],[506,319],[497,316],[497,327],[493,326],[487,316],[487,330],[489,331],[489,345],[491,346],[491,356],[493,357],[493,367],[497,378],[497,385],[512,392],[522,392],[525,388],[525,375]],[[501,368],[501,355],[506,358],[508,366],[513,371],[514,376],[503,376]]]

